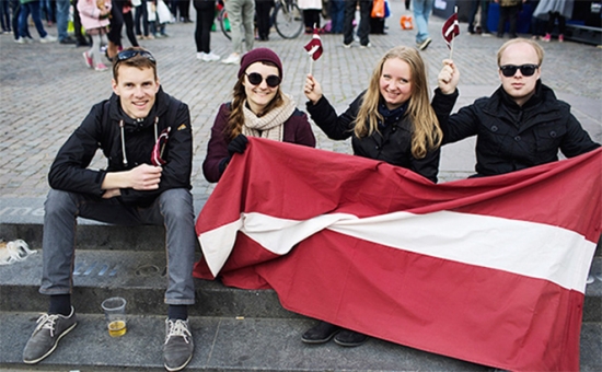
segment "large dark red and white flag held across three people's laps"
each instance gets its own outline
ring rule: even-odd
[[[250,138],[198,217],[197,278],[519,371],[578,371],[601,231],[602,150],[433,184],[360,156]]]

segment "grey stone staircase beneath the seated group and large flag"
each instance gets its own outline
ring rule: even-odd
[[[78,228],[74,292],[79,324],[57,350],[35,367],[22,350],[46,297],[37,292],[42,223],[0,222],[0,237],[23,239],[38,249],[22,263],[0,266],[0,371],[163,371],[166,305],[164,232],[153,226]],[[602,370],[602,257],[600,244],[587,288],[581,332],[581,370]],[[598,274],[598,279],[594,278]],[[488,371],[490,368],[370,339],[359,348],[334,342],[308,346],[300,335],[314,321],[283,310],[274,291],[196,281],[189,309],[195,354],[187,371]],[[101,302],[128,301],[128,332],[108,336]]]

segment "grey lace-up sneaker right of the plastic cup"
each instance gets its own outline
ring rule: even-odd
[[[163,361],[170,372],[183,370],[190,359],[195,342],[188,327],[188,321],[165,319],[165,344],[163,345]]]

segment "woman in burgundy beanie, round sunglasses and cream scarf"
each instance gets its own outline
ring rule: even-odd
[[[220,106],[202,174],[218,182],[234,153],[246,149],[247,136],[315,147],[308,116],[292,96],[280,89],[282,62],[268,48],[248,51],[241,59],[239,80],[231,102]]]

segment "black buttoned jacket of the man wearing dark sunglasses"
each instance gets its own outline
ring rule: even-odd
[[[441,120],[443,143],[476,136],[476,172],[490,176],[523,170],[591,151],[593,142],[570,106],[537,81],[535,94],[517,105],[500,86]]]

